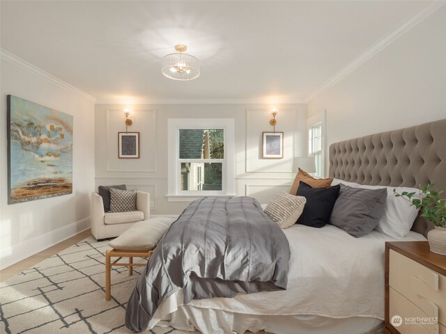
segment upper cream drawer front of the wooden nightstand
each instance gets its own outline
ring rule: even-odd
[[[427,317],[446,324],[446,277],[390,250],[389,285]]]

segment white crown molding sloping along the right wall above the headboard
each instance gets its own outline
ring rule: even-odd
[[[396,29],[390,31],[384,38],[381,38],[374,45],[371,45],[368,49],[366,49],[360,56],[358,56],[354,61],[346,65],[342,70],[334,74],[333,77],[325,81],[321,86],[316,88],[305,100],[306,103],[314,100],[318,95],[321,95],[325,90],[334,86],[338,81],[344,79],[348,74],[353,72],[360,67],[363,63],[368,61],[371,57],[378,54],[379,51],[385,49],[388,45],[392,44],[395,40],[400,38],[403,34],[413,29],[413,27],[417,26],[420,22],[424,21],[431,14],[436,12],[436,10],[440,9],[445,5],[446,1],[434,1],[433,3],[429,3],[429,5],[423,7],[421,10],[418,10],[414,15],[412,15],[406,22],[397,26]]]

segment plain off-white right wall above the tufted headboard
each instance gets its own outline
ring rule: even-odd
[[[445,40],[443,6],[309,102],[327,110],[328,145],[446,118]]]

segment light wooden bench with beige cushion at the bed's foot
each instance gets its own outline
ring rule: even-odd
[[[129,275],[133,275],[133,267],[145,267],[146,262],[134,263],[133,257],[150,259],[162,235],[175,220],[176,218],[156,217],[139,221],[109,242],[112,249],[105,252],[106,301],[112,297],[112,267],[128,267]],[[113,260],[114,257],[118,258]],[[128,262],[119,262],[123,257],[128,257]]]

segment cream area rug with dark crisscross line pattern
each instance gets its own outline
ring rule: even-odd
[[[88,237],[0,283],[0,333],[132,333],[125,304],[144,267],[132,276],[128,267],[112,267],[112,299],[105,301],[108,243]],[[145,333],[193,332],[155,326]]]

